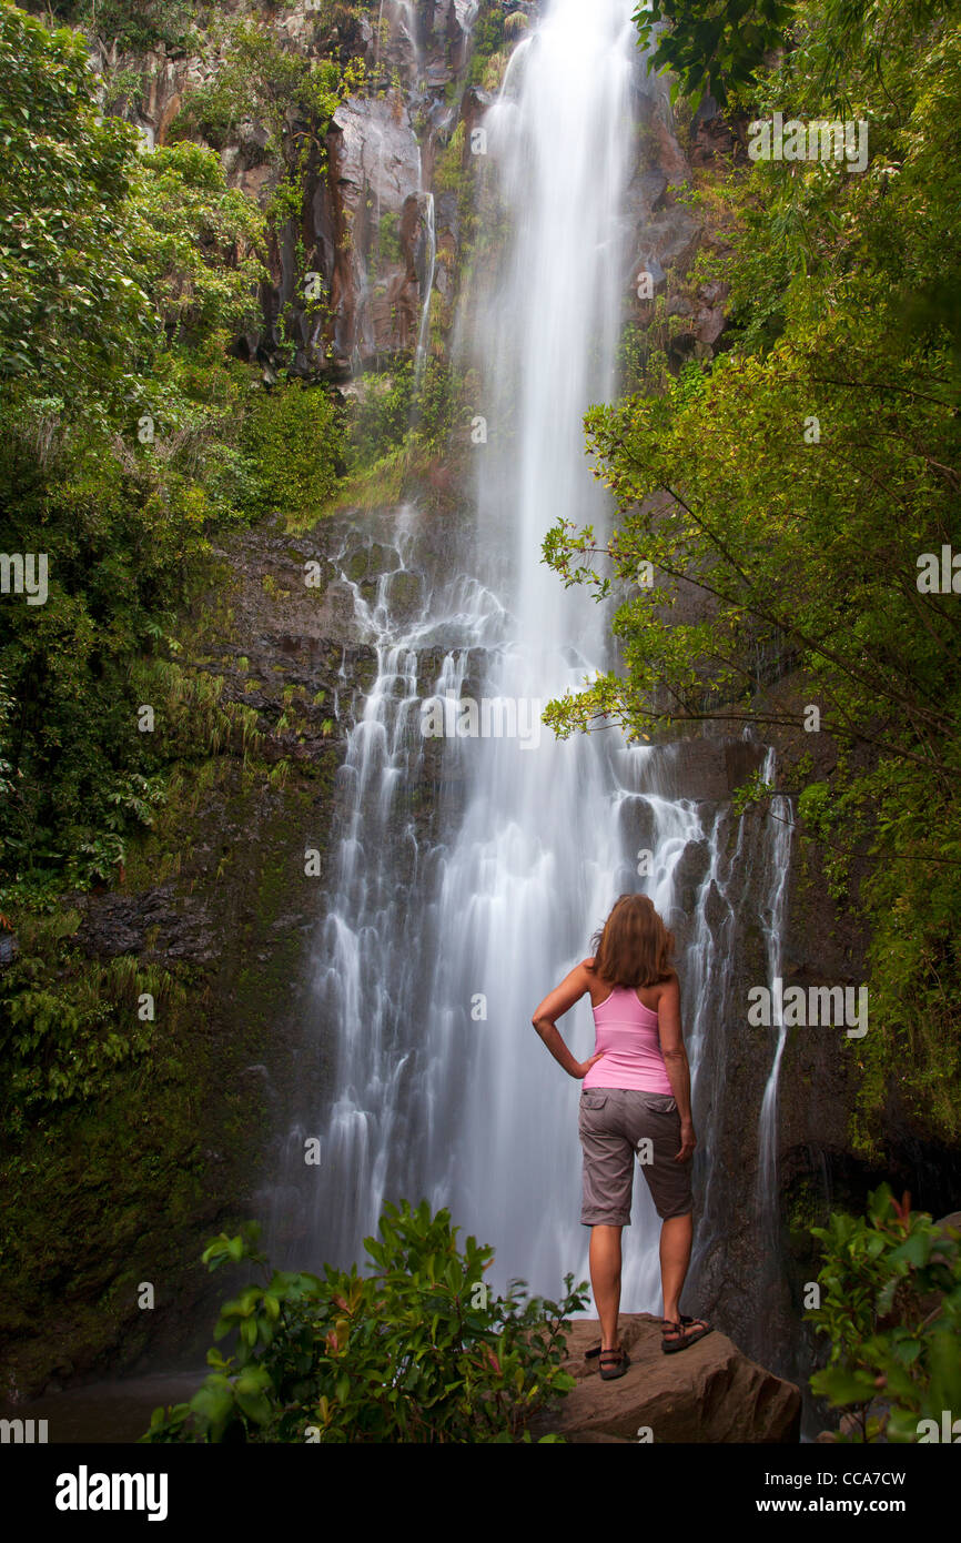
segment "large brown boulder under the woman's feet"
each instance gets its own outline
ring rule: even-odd
[[[801,1432],[801,1390],[748,1361],[719,1330],[665,1355],[662,1321],[622,1313],[620,1342],[631,1356],[623,1376],[603,1381],[585,1350],[600,1344],[595,1318],[574,1322],[565,1370],[577,1387],[531,1426],[568,1441],[793,1443]]]

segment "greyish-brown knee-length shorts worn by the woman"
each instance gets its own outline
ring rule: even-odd
[[[680,1151],[680,1116],[669,1094],[585,1088],[577,1128],[585,1153],[580,1211],[585,1227],[631,1225],[636,1157],[660,1219],[688,1214],[693,1157],[674,1162]]]

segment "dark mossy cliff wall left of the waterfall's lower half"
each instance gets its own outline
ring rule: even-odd
[[[211,559],[177,626],[179,667],[214,682],[224,708],[255,705],[261,733],[211,750],[197,724],[122,881],[19,929],[8,967],[63,1003],[128,963],[103,1006],[119,1035],[139,1035],[96,1068],[96,1091],[45,1109],[8,1153],[6,1395],[187,1353],[210,1324],[202,1247],[256,1210],[271,1099],[296,1075],[284,1008],[324,881],[305,878],[304,849],[325,853],[344,748],[330,702],[344,659],[358,682],[369,671],[362,648],[324,634],[302,562],[268,529]],[[143,1282],[153,1307],[139,1305]]]

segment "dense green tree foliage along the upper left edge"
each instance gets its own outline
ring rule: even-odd
[[[0,608],[0,870],[116,875],[165,770],[131,662],[170,630],[205,528],[253,506],[236,424],[264,219],[197,145],[139,153],[103,116],[82,37],[0,0],[0,506],[39,554]],[[9,890],[5,890],[9,903]]]

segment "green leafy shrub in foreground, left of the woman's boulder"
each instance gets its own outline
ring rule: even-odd
[[[386,1205],[379,1239],[367,1237],[373,1273],[356,1265],[315,1275],[275,1271],[244,1234],[221,1234],[210,1270],[244,1259],[267,1285],[224,1304],[214,1338],[236,1330],[231,1356],[188,1404],[156,1409],[145,1441],[529,1441],[531,1416],[574,1387],[561,1370],[565,1329],[586,1305],[586,1282],[561,1302],[526,1299],[523,1282],[494,1296],[494,1258],[446,1210]],[[543,1440],[555,1440],[545,1437]]]

